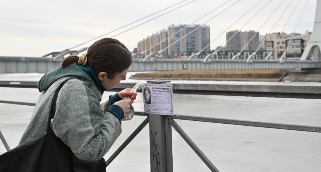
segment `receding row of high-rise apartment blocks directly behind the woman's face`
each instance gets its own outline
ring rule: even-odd
[[[166,47],[168,49],[160,54],[161,58],[190,56],[192,53],[199,52],[203,48],[205,49],[202,54],[210,52],[210,46],[208,46],[210,43],[210,27],[207,25],[172,24],[167,29],[160,30],[159,32],[157,31],[141,39],[137,43],[137,52],[133,51],[133,53],[145,52],[142,54],[142,57],[145,57],[150,53],[164,50]],[[162,45],[160,46],[160,44]]]

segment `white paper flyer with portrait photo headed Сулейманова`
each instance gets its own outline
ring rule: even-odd
[[[171,84],[143,84],[144,109],[147,113],[174,115]]]

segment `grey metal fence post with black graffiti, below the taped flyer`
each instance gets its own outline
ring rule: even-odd
[[[147,81],[164,83],[168,81]],[[166,115],[149,114],[151,172],[173,172],[172,128]]]

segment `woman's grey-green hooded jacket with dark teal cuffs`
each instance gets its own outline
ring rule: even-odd
[[[121,108],[111,105],[120,98],[115,94],[100,105],[100,90],[76,64],[48,72],[40,79],[41,94],[19,144],[45,134],[54,93],[65,80],[68,81],[58,94],[51,127],[80,160],[99,161],[121,133],[121,114],[115,115]]]

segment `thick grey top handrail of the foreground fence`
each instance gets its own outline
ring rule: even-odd
[[[119,83],[114,89],[131,88],[136,83]],[[231,95],[251,97],[281,97],[321,99],[321,85],[236,85],[169,83],[174,94]],[[38,81],[0,81],[0,87],[37,88]]]

